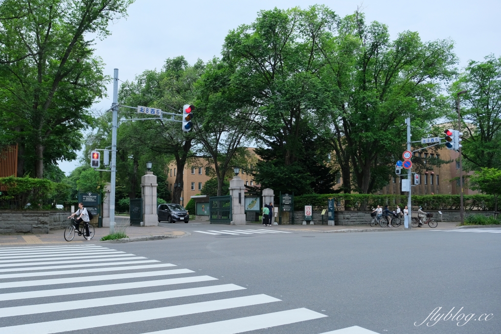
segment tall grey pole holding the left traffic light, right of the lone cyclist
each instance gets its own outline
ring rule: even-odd
[[[111,190],[110,234],[115,233],[115,184],[117,172],[117,118],[118,118],[118,68],[113,70],[113,103],[111,123]]]

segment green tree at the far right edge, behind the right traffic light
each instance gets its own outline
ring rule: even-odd
[[[483,62],[470,61],[463,73],[450,87],[456,110],[460,96],[461,129],[464,135],[461,154],[466,170],[501,168],[501,58],[489,55]],[[451,123],[457,124],[457,114],[451,114]]]

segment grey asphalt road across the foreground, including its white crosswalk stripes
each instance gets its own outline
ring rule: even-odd
[[[0,333],[501,332],[501,233],[175,228],[191,235],[78,245],[90,247],[83,250],[0,249]],[[291,233],[255,233],[262,229]],[[145,262],[152,260],[160,262]],[[55,266],[66,267],[47,268]],[[46,268],[34,270],[40,267]],[[442,316],[430,322],[436,307],[442,308],[434,318],[454,307],[450,318],[462,307],[456,316],[464,313],[470,320]],[[478,319],[484,313],[491,315]]]

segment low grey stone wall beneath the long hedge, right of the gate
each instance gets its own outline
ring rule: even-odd
[[[371,213],[372,211],[335,211],[334,212],[334,224],[335,225],[364,225],[369,224],[371,221]],[[459,222],[459,211],[453,210],[441,210],[442,217],[438,214],[438,211],[426,211],[427,213],[433,213],[433,219],[438,222]],[[314,211],[313,212],[313,223],[315,225],[322,224],[322,212]],[[484,216],[493,216],[494,213],[492,211],[469,211],[464,212],[464,217],[469,215],[484,215]],[[412,216],[417,217],[417,210],[412,211]],[[294,211],[294,223],[302,224],[303,219],[305,217],[304,211]],[[403,220],[402,220],[403,222]],[[292,219],[289,219],[289,224],[292,223]],[[310,224],[310,222],[307,222]],[[327,212],[324,215],[324,225],[327,225]]]

